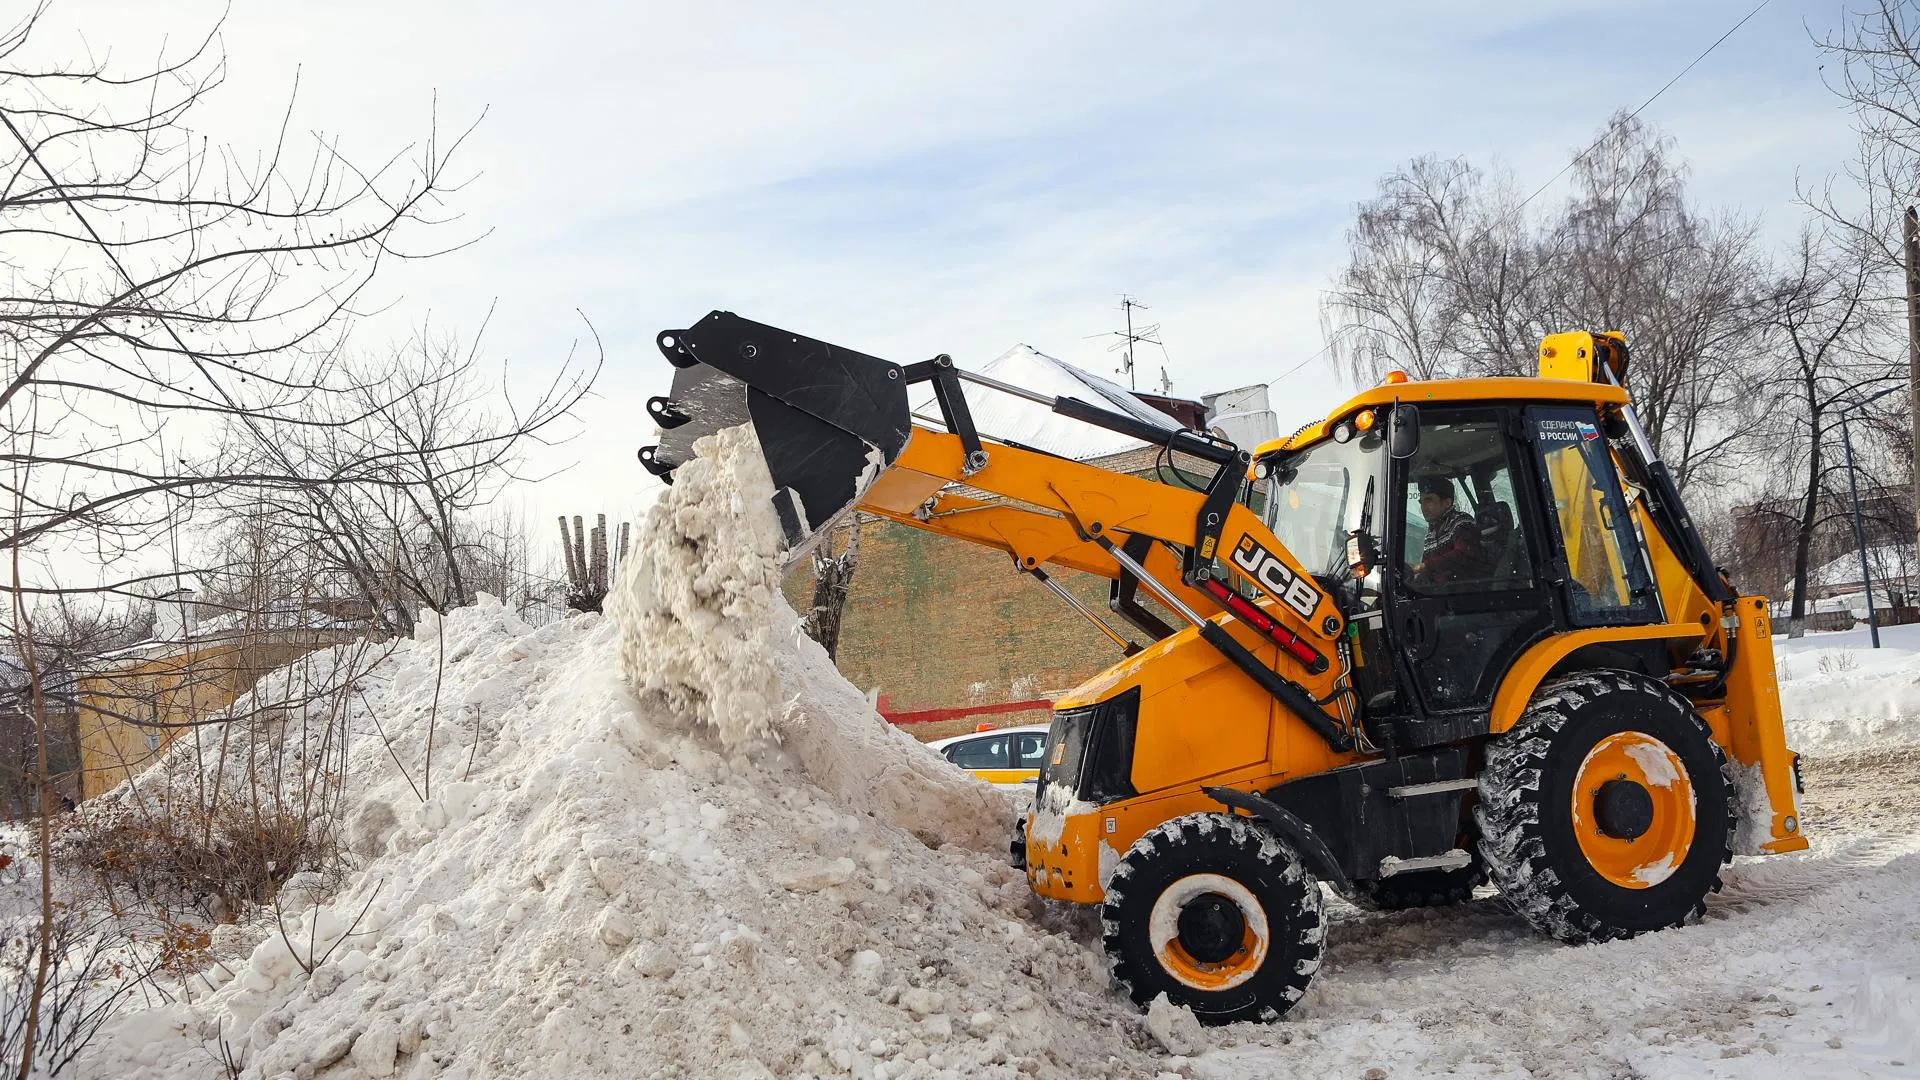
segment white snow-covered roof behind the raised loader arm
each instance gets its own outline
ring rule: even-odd
[[[1129,394],[1125,386],[1081,371],[1064,359],[1054,359],[1033,346],[1014,346],[975,371],[1000,382],[1033,390],[1035,394],[1046,394],[1048,398],[1079,398],[1089,405],[1116,409],[1169,432],[1181,427],[1173,417]],[[989,390],[973,382],[966,382],[964,386],[973,427],[981,434],[1004,442],[1018,442],[1033,450],[1073,457],[1075,461],[1146,446],[1139,438],[1119,434],[1117,430],[1062,417],[1046,405],[1025,398]],[[931,390],[914,402],[914,411],[939,415]]]

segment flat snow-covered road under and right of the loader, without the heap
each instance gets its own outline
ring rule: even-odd
[[[1805,776],[1812,849],[1736,861],[1697,926],[1567,947],[1492,896],[1340,905],[1288,1022],[1204,1032],[1187,1072],[1920,1076],[1920,749]]]

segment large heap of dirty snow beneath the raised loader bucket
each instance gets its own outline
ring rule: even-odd
[[[766,511],[735,450],[682,471],[643,552],[764,525],[687,505]],[[119,1020],[86,1074],[1154,1076],[1098,953],[1031,920],[1000,796],[745,598],[758,553],[680,598],[655,577],[637,632],[484,600],[399,642],[344,721],[371,855],[223,928],[240,959]],[[649,634],[703,640],[662,661]]]

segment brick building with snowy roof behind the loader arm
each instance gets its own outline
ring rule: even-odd
[[[1181,419],[1210,417],[1202,402],[1148,398],[1020,346],[981,369],[983,375],[1048,396],[1073,396],[1121,409],[1169,430]],[[1260,390],[1254,394],[1252,390]],[[1233,392],[1233,436],[1271,432],[1263,388]],[[1165,405],[1162,405],[1165,404]],[[970,388],[968,407],[985,434],[1133,475],[1165,475],[1158,446],[1056,417],[1041,405]],[[931,407],[918,407],[935,415]],[[1175,419],[1181,417],[1181,419]],[[1208,465],[1175,463],[1192,477]],[[860,561],[841,615],[839,669],[862,690],[885,700],[883,711],[956,709],[1008,701],[1046,701],[1121,657],[1119,648],[1071,611],[1012,559],[991,548],[948,540],[891,521],[860,515]],[[1068,569],[1048,569],[1056,582],[1087,607],[1106,613],[1108,580]],[[787,598],[804,611],[812,590],[806,563],[789,577]],[[1117,617],[1114,617],[1117,623]],[[1031,713],[998,713],[998,726],[1044,721]],[[972,730],[973,721],[914,724],[914,734],[937,738]]]

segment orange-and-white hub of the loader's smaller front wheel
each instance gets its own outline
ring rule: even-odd
[[[1154,959],[1194,990],[1240,986],[1267,959],[1267,913],[1223,874],[1187,874],[1154,901],[1146,936]]]

